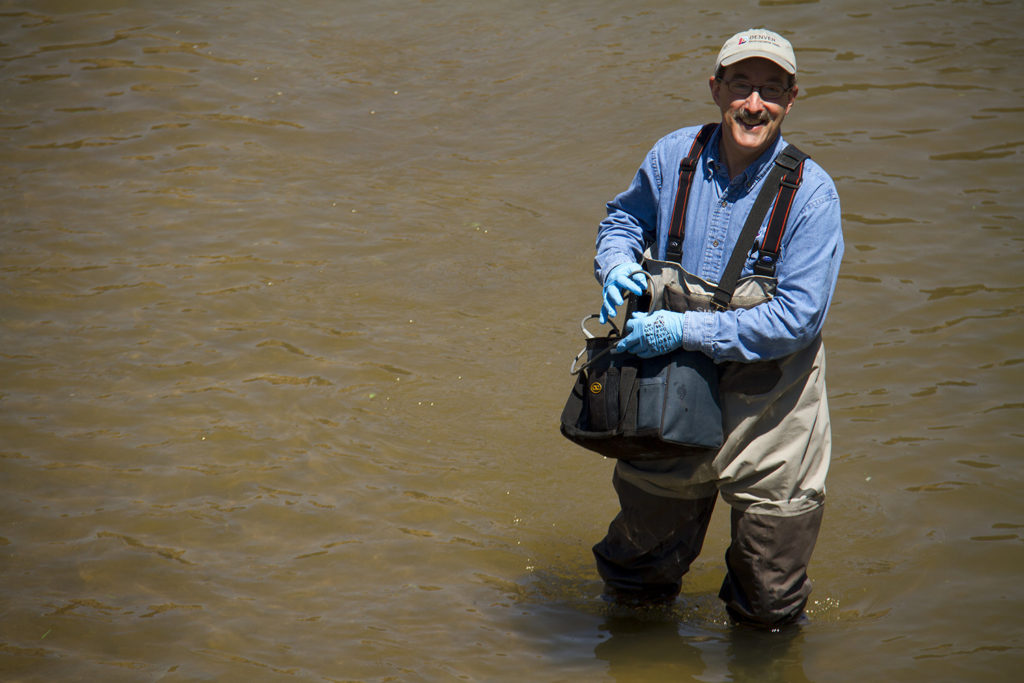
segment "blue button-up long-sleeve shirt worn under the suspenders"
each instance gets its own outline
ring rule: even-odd
[[[598,282],[603,283],[620,263],[639,262],[645,249],[654,258],[665,259],[679,163],[699,130],[699,126],[682,128],[658,140],[630,187],[608,203],[608,216],[597,233],[594,273]],[[721,127],[705,147],[693,177],[681,263],[688,272],[712,283],[721,279],[765,176],[786,145],[780,135],[730,181],[719,154],[720,136]],[[766,223],[767,217],[758,243]],[[755,257],[756,251],[748,254],[741,276],[753,273]],[[685,313],[683,347],[716,361],[768,360],[804,348],[824,325],[842,258],[839,194],[828,174],[808,159],[782,236],[775,297],[749,309]]]

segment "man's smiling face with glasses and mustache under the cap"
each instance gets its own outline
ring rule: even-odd
[[[782,120],[797,98],[798,88],[794,85],[781,96],[766,99],[759,90],[746,96],[737,95],[730,84],[733,88],[745,83],[784,90],[790,79],[790,74],[774,61],[757,57],[726,67],[721,80],[711,79],[712,96],[722,110],[722,131],[726,143],[732,145],[734,152],[751,161],[760,157],[778,135]]]

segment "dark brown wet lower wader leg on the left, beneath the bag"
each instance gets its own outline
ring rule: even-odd
[[[594,546],[608,592],[639,600],[672,599],[700,553],[716,496],[698,500],[654,496],[612,477],[622,511]]]

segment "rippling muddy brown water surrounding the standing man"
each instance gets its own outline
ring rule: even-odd
[[[1000,681],[1024,666],[1024,8],[0,0],[0,679]],[[810,624],[609,610],[559,436],[603,204],[798,47],[837,180]]]

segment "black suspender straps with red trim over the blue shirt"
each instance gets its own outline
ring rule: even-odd
[[[665,256],[667,260],[679,263],[683,258],[683,237],[685,234],[686,204],[689,200],[690,186],[693,184],[693,176],[696,173],[697,163],[700,154],[703,152],[708,140],[718,124],[709,123],[697,133],[690,152],[679,164],[679,189],[676,193],[676,204],[672,209],[672,224],[669,229],[669,242],[666,245]],[[778,252],[782,245],[782,232],[785,231],[786,221],[790,219],[790,210],[793,208],[793,199],[797,195],[804,172],[804,160],[807,155],[795,147],[787,145],[778,157],[768,177],[765,178],[764,185],[754,201],[754,207],[746,216],[743,229],[736,240],[736,247],[732,250],[729,263],[725,266],[722,280],[715,290],[715,297],[712,305],[718,310],[725,310],[729,307],[732,293],[736,289],[739,281],[739,273],[743,269],[745,255],[750,251],[744,245],[752,244],[761,229],[768,208],[774,203],[771,216],[768,217],[768,228],[765,230],[765,239],[758,249],[758,258],[754,264],[754,273],[758,275],[773,276],[775,274],[775,263],[778,261]]]

